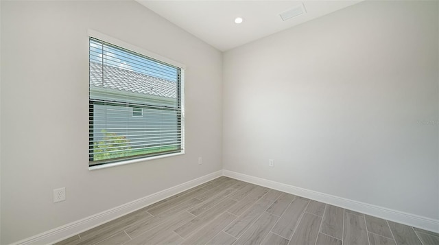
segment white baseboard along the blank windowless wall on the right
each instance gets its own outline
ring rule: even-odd
[[[402,211],[388,209],[385,207],[379,207],[376,205],[370,205],[364,202],[357,202],[355,200],[324,194],[318,191],[311,191],[309,189],[286,185],[283,183],[278,183],[276,181],[266,180],[265,178],[258,178],[246,174],[232,172],[229,170],[223,170],[223,175],[230,178],[236,178],[238,180],[246,181],[248,183],[253,183],[255,185],[261,185],[263,187],[268,187],[271,189],[276,189],[278,191],[287,192],[289,194],[294,194],[296,196],[302,196],[304,198],[328,203],[330,205],[342,207],[344,209],[351,209],[359,213],[366,213],[368,215],[383,218],[385,220],[391,220],[401,224],[406,224],[420,229],[425,229],[427,231],[439,233],[439,220],[434,220],[420,215],[414,215],[412,213],[405,213]]]

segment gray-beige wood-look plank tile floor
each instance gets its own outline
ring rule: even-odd
[[[439,244],[439,234],[225,176],[56,245]]]

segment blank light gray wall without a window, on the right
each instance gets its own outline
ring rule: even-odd
[[[437,220],[438,46],[438,1],[364,1],[226,51],[224,169]]]

